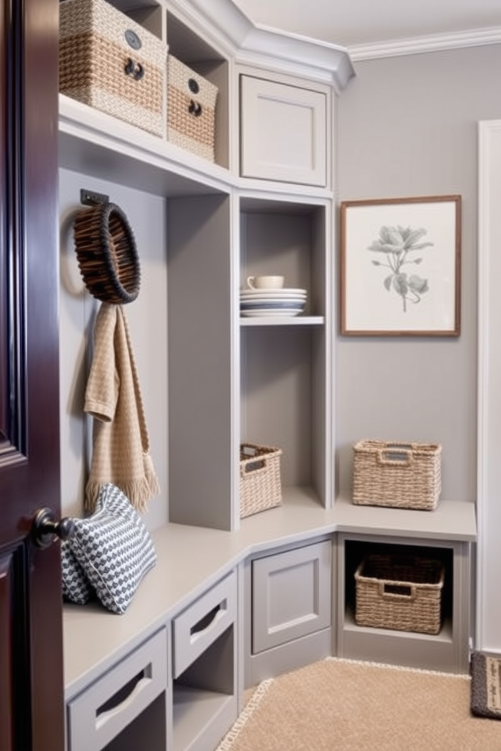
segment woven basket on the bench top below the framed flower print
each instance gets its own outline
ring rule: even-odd
[[[353,454],[353,503],[436,508],[441,490],[439,444],[359,441]]]

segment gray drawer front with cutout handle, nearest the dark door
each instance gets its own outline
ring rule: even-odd
[[[68,702],[68,751],[99,751],[167,687],[167,632],[137,650]]]

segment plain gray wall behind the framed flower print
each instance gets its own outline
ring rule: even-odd
[[[440,442],[442,498],[476,496],[478,120],[501,45],[355,63],[337,104],[337,199],[462,196],[461,335],[337,337],[337,478],[358,439]],[[338,329],[339,330],[339,329]]]

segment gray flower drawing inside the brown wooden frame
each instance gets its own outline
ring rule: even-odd
[[[412,229],[411,227],[391,227],[383,225],[379,230],[379,237],[373,240],[368,250],[383,255],[384,260],[372,261],[374,266],[386,267],[391,273],[385,277],[383,284],[390,292],[392,289],[402,299],[403,312],[407,311],[407,303],[421,302],[421,295],[429,290],[428,280],[418,274],[410,274],[403,271],[404,266],[414,264],[418,266],[423,258],[414,257],[414,253],[430,248],[433,243],[421,242],[427,230],[423,228]],[[412,254],[412,255],[411,255]]]

